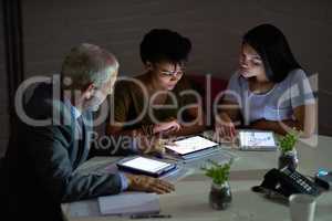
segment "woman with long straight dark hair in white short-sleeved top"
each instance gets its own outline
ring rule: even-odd
[[[232,138],[241,125],[281,135],[295,128],[309,137],[315,128],[314,104],[307,75],[286,36],[276,27],[261,24],[243,35],[239,70],[216,116],[216,131]]]

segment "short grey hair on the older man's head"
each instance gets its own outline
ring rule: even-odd
[[[118,62],[112,53],[97,45],[83,43],[65,56],[61,75],[63,81],[70,82],[65,87],[82,90],[89,84],[101,87],[117,69]]]

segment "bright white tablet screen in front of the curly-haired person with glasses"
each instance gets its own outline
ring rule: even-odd
[[[218,145],[218,144],[214,143],[209,139],[203,138],[200,136],[195,136],[195,137],[189,137],[189,138],[185,138],[185,139],[175,141],[174,146],[166,145],[165,147],[177,154],[186,155],[186,154],[194,152],[197,150],[214,147],[216,145]]]

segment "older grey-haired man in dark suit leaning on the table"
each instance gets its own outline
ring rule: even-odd
[[[127,189],[157,193],[174,190],[170,183],[151,177],[75,170],[89,156],[92,112],[112,93],[117,71],[113,54],[96,45],[81,44],[64,59],[59,96],[55,83],[42,83],[25,107],[30,118],[52,119],[51,124],[27,124],[17,113],[18,129],[11,136],[4,160],[7,212],[12,218],[61,220],[60,203],[64,201]]]

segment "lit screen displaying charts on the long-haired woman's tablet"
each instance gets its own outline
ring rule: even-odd
[[[241,146],[274,147],[276,141],[271,131],[240,131]]]

